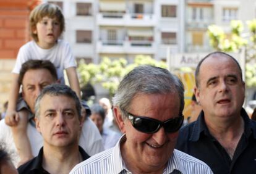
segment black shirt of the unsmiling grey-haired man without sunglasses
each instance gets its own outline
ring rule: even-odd
[[[79,152],[82,155],[82,159],[86,160],[90,156],[83,151],[83,148],[79,146]],[[41,147],[39,154],[37,157],[33,158],[32,160],[29,160],[23,165],[20,165],[18,168],[18,172],[20,174],[49,174],[43,167],[43,147]]]

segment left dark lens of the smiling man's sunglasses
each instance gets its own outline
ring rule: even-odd
[[[147,118],[134,118],[134,128],[143,133],[153,133],[157,130],[159,123]]]

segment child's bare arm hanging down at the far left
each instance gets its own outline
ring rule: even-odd
[[[18,82],[19,74],[13,74],[13,80],[11,85],[11,91],[9,93],[8,107],[6,111],[5,122],[9,126],[17,125],[19,121],[19,114],[16,112],[16,104],[19,97],[20,85]]]

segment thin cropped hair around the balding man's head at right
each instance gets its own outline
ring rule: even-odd
[[[230,56],[229,54],[226,54],[225,52],[221,52],[221,51],[215,51],[215,52],[211,52],[210,54],[208,54],[207,56],[203,57],[202,60],[200,60],[200,62],[198,62],[197,64],[197,68],[195,68],[195,85],[198,87],[199,86],[199,73],[200,73],[200,67],[203,63],[203,61],[205,59],[207,59],[208,57],[218,57],[218,56],[223,56],[223,57],[228,57],[231,60],[234,60],[234,62],[236,63],[238,69],[239,69],[239,73],[241,76],[241,80],[242,80],[242,69],[239,65],[239,63],[237,62],[236,59],[234,59],[234,57]]]

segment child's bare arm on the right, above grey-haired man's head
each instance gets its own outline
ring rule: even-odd
[[[67,78],[69,79],[70,87],[75,91],[79,99],[81,99],[79,79],[77,77],[77,71],[75,67],[69,67],[66,69]]]

